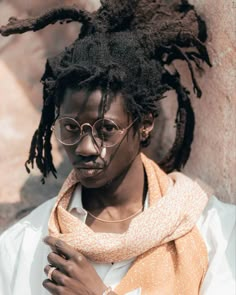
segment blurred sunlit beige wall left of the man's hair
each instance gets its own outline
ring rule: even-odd
[[[55,5],[72,4],[71,0],[5,0],[0,1],[0,25],[9,17],[38,15]],[[77,5],[95,10],[97,0],[79,0]],[[38,126],[42,104],[40,78],[48,56],[61,52],[78,36],[79,25],[56,24],[40,32],[29,32],[8,38],[0,37],[0,231],[25,212],[55,196],[69,171],[65,157],[54,142],[54,158],[58,180],[46,185],[40,173],[26,173],[24,162],[32,134]]]

